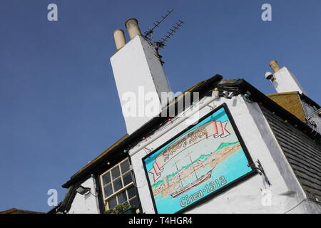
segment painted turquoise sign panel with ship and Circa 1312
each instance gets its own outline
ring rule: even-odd
[[[224,107],[143,162],[161,214],[190,207],[252,171]]]

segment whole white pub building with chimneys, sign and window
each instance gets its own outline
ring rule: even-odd
[[[321,109],[294,73],[272,61],[272,95],[216,75],[175,96],[158,46],[136,19],[126,27],[111,64],[127,134],[63,184],[51,213],[321,213]],[[159,109],[128,115],[142,89]]]

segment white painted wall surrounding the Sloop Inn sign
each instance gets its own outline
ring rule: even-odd
[[[206,100],[208,99],[210,98],[200,100],[200,103],[206,103]],[[272,186],[268,187],[262,176],[255,175],[223,194],[190,209],[187,213],[317,212],[317,209],[315,208],[320,209],[320,207],[316,205],[302,207],[302,205],[305,204],[305,192],[302,190],[302,187],[300,187],[299,182],[297,182],[290,164],[285,159],[258,104],[247,103],[243,97],[238,96],[231,100],[218,98],[213,102],[212,106],[215,105],[215,107],[218,107],[222,103],[228,104],[228,108],[238,126],[240,135],[242,136],[245,145],[248,147],[250,156],[253,158],[253,161],[260,160]],[[203,117],[211,110],[213,109],[209,106],[201,109],[199,118]],[[175,119],[177,119],[177,117]],[[173,119],[174,123],[175,119]],[[142,158],[146,156],[149,150],[153,151],[187,127],[188,126],[185,125],[185,123],[181,123],[168,132],[166,132],[166,128],[163,128],[163,135],[146,146],[148,150],[140,150],[133,154],[133,151],[135,151],[136,148],[139,148],[146,143],[141,142],[130,151],[143,212],[155,213],[151,194],[148,189],[148,182],[143,169]],[[158,132],[156,132],[156,134],[157,133]],[[153,135],[151,138],[153,138]],[[147,142],[148,140],[151,140],[151,138],[148,138]],[[266,194],[272,195],[272,204],[268,207],[263,206],[262,203],[264,200],[263,197],[265,197]],[[298,204],[300,205],[297,206]]]

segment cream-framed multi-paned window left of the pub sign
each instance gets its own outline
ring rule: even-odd
[[[104,172],[101,175],[101,185],[106,209],[113,209],[124,202],[138,207],[137,191],[133,185],[128,159]]]

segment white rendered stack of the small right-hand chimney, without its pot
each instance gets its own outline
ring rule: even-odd
[[[289,71],[286,67],[283,67],[280,71],[274,73],[274,78],[275,80],[272,81],[272,84],[275,87],[275,90],[277,90],[277,93],[298,91],[299,93],[307,95],[299,81],[297,81],[297,78],[295,78],[294,73]]]

